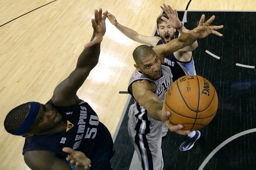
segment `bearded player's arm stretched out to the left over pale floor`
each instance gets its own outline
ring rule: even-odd
[[[146,44],[146,45],[155,46],[160,39],[160,37],[158,36],[141,35],[136,31],[134,31],[133,29],[130,29],[126,26],[121,25],[120,23],[117,22],[115,16],[111,13],[107,14],[107,18],[119,31],[121,31],[125,36],[132,39],[133,41]]]

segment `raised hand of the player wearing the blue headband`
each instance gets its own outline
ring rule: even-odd
[[[88,48],[94,44],[98,44],[102,41],[103,36],[106,32],[105,19],[107,15],[107,10],[102,15],[102,9],[94,10],[94,19],[91,19],[91,24],[93,28],[93,35],[91,41],[84,45],[84,48]]]

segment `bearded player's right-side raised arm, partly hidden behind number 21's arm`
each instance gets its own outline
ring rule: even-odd
[[[167,14],[169,18],[167,19],[164,16],[162,16],[161,19],[164,20],[166,23],[169,23],[173,28],[178,30],[180,34],[182,34],[182,30],[186,28],[183,25],[183,23],[180,22],[176,9],[173,9],[170,5],[166,5],[164,3],[160,7]],[[178,51],[182,51],[182,52],[193,51],[195,48],[197,48],[197,46],[198,46],[197,41],[194,41],[191,45],[185,46],[179,49]]]

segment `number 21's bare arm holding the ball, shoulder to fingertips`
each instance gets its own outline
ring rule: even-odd
[[[171,131],[176,132],[180,135],[186,135],[190,131],[182,131],[182,125],[172,125],[168,120],[170,113],[164,113],[162,109],[162,102],[153,93],[155,91],[155,86],[147,80],[136,81],[132,84],[132,94],[136,101],[143,106],[151,118],[162,121],[165,126]]]

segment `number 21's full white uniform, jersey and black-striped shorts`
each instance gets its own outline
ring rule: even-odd
[[[170,68],[161,65],[162,76],[153,80],[135,70],[130,78],[128,92],[132,94],[131,85],[138,80],[148,80],[155,85],[155,94],[163,101],[164,93],[172,83]],[[134,97],[133,97],[134,98]],[[141,162],[143,170],[162,170],[161,132],[163,122],[150,117],[147,110],[134,100],[129,108],[128,133]]]

